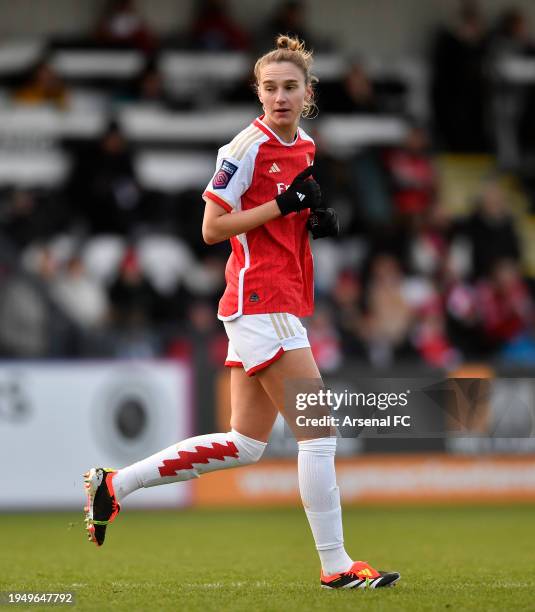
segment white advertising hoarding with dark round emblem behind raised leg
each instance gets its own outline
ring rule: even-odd
[[[0,364],[0,510],[83,506],[82,474],[123,467],[191,435],[187,364]],[[127,507],[189,503],[189,483],[132,494]]]

